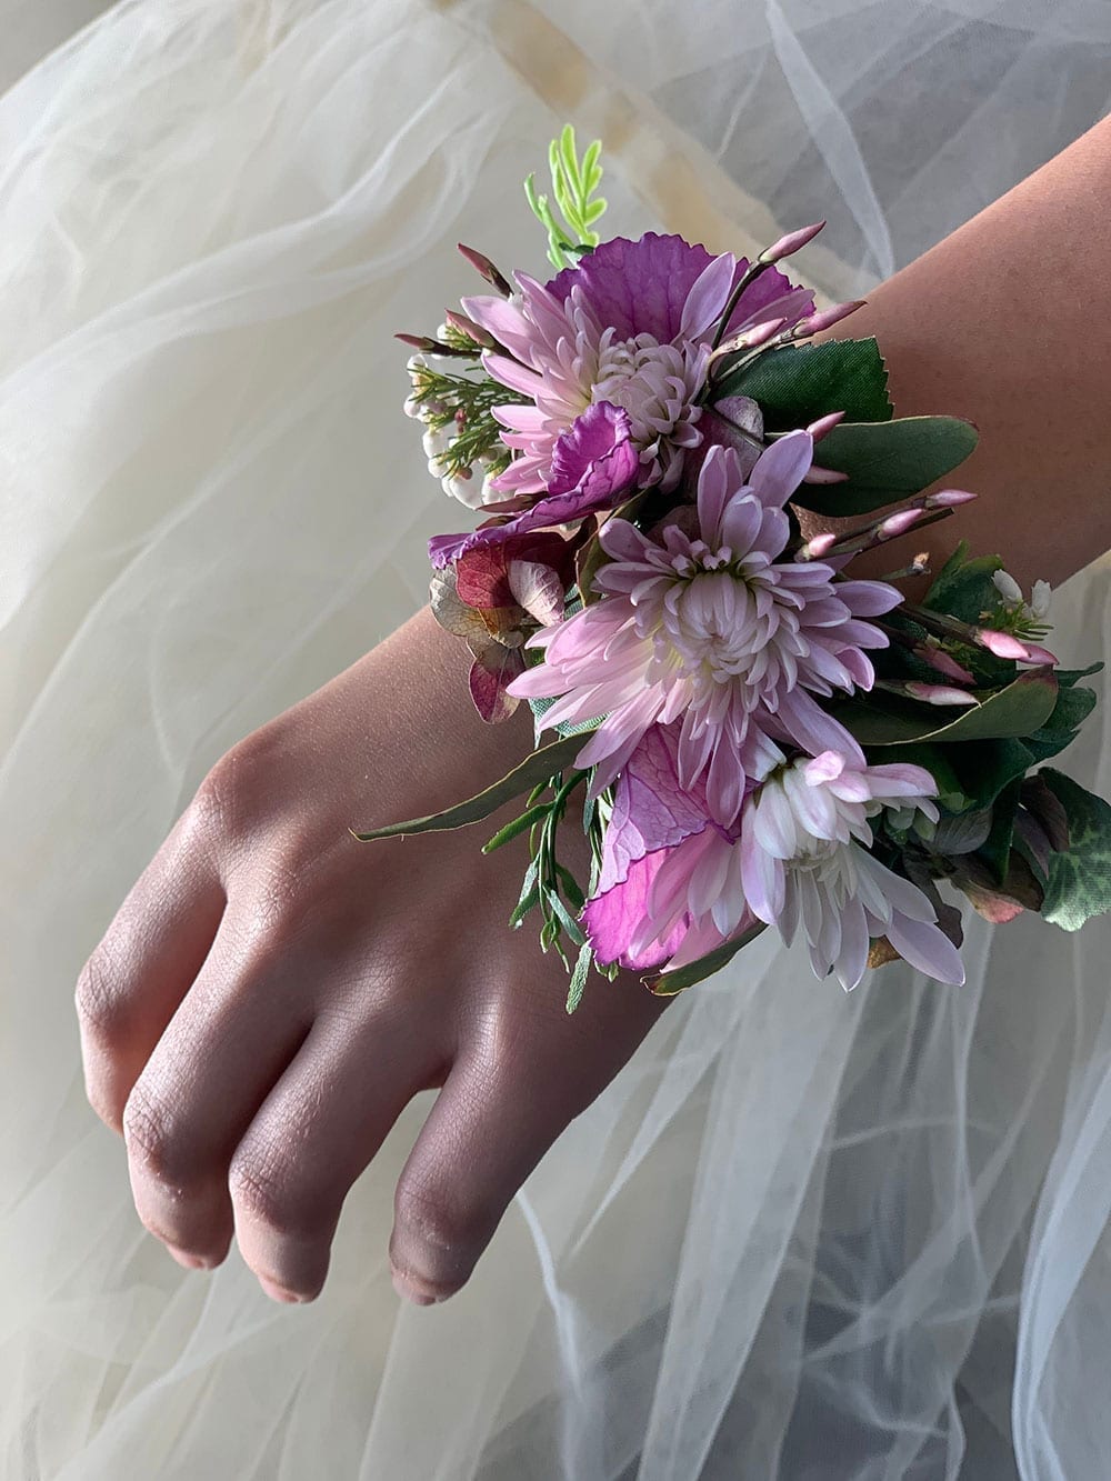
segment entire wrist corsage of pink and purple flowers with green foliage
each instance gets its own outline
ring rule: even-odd
[[[881,581],[852,569],[975,498],[936,487],[975,425],[896,418],[873,338],[807,344],[861,307],[816,310],[779,267],[824,222],[751,262],[601,241],[598,154],[579,160],[570,127],[553,142],[561,221],[526,182],[556,277],[462,247],[492,292],[400,336],[430,471],[483,515],[430,542],[433,612],[470,649],[484,720],[532,706],[535,749],[455,807],[354,837],[520,800],[486,852],[527,838],[510,924],[539,920],[569,1012],[593,970],[674,994],[766,929],[846,989],[896,958],[960,985],[961,895],[1065,930],[1111,909],[1111,807],[1044,764],[1102,665],[1044,646],[1046,584],[1027,597],[964,542],[917,603],[901,584],[924,555]],[[810,515],[840,523],[807,533]]]

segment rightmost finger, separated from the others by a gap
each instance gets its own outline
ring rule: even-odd
[[[655,1000],[644,1012],[637,997],[624,1019],[607,1009],[604,1052],[606,1041],[593,1038],[600,1025],[573,1032],[572,1017],[563,1028],[548,1022],[514,1032],[501,1046],[487,1038],[456,1059],[397,1182],[390,1259],[403,1296],[428,1305],[468,1281],[517,1189],[664,1006]]]

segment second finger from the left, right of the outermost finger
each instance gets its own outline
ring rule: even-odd
[[[181,1263],[218,1265],[234,1232],[228,1173],[310,1032],[318,969],[233,908],[123,1111],[135,1207]]]

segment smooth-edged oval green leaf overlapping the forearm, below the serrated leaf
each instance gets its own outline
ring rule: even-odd
[[[837,518],[871,514],[921,493],[976,446],[976,428],[958,416],[904,416],[893,422],[841,422],[821,440],[815,462],[847,472],[837,484],[804,483],[791,496],[803,509]]]

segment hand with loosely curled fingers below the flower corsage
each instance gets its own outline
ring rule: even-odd
[[[233,746],[81,972],[89,1100],[184,1265],[219,1265],[234,1232],[268,1294],[311,1300],[348,1189],[438,1086],[390,1256],[403,1294],[443,1300],[667,1006],[622,974],[566,1013],[533,918],[507,924],[524,840],[480,853],[513,806],[452,834],[348,832],[434,812],[529,751],[527,711],[484,726],[464,675],[425,610]]]

